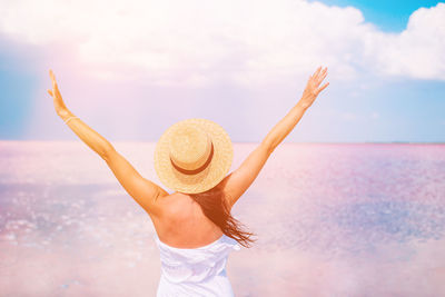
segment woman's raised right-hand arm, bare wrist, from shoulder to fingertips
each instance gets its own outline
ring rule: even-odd
[[[301,119],[304,112],[317,98],[318,93],[329,85],[329,82],[326,82],[323,87],[319,87],[326,75],[327,68],[322,70],[322,67],[319,67],[315,73],[309,77],[306,89],[297,105],[274,126],[261,143],[250,152],[239,168],[222,179],[221,187],[227,195],[227,202],[230,209],[254,182],[270,154],[294,129]]]

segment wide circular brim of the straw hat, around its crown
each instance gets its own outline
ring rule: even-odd
[[[214,143],[214,156],[207,168],[196,175],[186,175],[171,165],[169,139],[178,125],[196,126],[204,129]],[[159,180],[168,188],[180,192],[202,192],[217,186],[229,171],[234,159],[234,148],[229,135],[218,123],[208,119],[186,119],[176,122],[159,138],[155,148],[155,170]]]

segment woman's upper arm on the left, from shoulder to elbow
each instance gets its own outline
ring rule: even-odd
[[[116,149],[107,150],[103,160],[115,174],[120,185],[149,215],[160,215],[156,200],[168,195],[166,190],[155,182],[144,178]]]

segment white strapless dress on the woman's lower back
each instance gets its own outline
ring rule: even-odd
[[[175,248],[159,240],[161,275],[157,297],[206,296],[234,297],[226,263],[231,250],[241,246],[222,234],[214,242],[199,248]]]

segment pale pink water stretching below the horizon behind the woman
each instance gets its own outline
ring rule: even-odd
[[[155,143],[113,145],[160,184]],[[283,143],[233,211],[236,296],[445,296],[445,145]],[[154,231],[80,140],[0,141],[0,296],[155,296]]]

